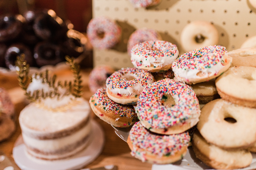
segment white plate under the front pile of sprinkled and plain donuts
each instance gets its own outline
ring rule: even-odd
[[[127,142],[127,138],[129,135],[129,132],[131,130],[131,127],[128,128],[117,128],[115,126],[112,126],[116,131],[117,136],[119,136],[121,139]],[[184,156],[184,158],[180,161],[177,161],[172,164],[166,164],[166,165],[152,165],[152,170],[215,170],[211,167],[205,165],[200,159],[196,158],[195,152],[193,151],[192,146],[188,147],[187,154]],[[239,170],[252,170],[256,169],[256,154],[252,153],[252,163],[242,169]]]

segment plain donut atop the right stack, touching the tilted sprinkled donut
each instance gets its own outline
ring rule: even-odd
[[[249,66],[256,67],[256,46],[248,48],[239,48],[227,53],[232,57],[231,67]]]

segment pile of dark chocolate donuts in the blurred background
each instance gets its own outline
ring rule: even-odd
[[[66,55],[78,57],[88,40],[72,28],[53,10],[0,16],[0,67],[16,70],[16,57],[22,53],[33,67],[56,65]]]

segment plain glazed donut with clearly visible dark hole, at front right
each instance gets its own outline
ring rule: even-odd
[[[233,122],[228,122],[228,119]],[[197,129],[207,142],[221,148],[247,148],[256,142],[256,109],[232,104],[223,99],[201,109]]]

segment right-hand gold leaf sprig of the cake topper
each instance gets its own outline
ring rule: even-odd
[[[74,74],[75,80],[73,83],[73,92],[72,95],[75,97],[81,97],[82,96],[82,80],[80,75],[80,65],[78,65],[74,61],[74,57],[70,58],[69,56],[65,56],[65,59],[68,61],[68,65],[70,66],[71,71]],[[71,88],[71,86],[69,86]],[[70,89],[71,91],[71,89]]]

